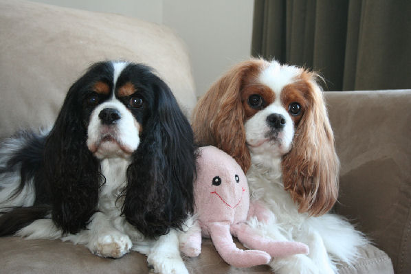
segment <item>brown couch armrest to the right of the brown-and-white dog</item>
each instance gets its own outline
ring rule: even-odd
[[[411,90],[326,92],[341,161],[337,213],[411,273]]]

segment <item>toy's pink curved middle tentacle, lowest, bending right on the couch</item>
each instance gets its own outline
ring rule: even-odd
[[[250,267],[267,264],[271,256],[259,250],[242,250],[236,247],[230,234],[230,225],[214,222],[208,225],[208,231],[221,258],[235,267]]]

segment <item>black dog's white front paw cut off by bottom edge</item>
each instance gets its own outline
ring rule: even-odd
[[[151,253],[147,262],[153,266],[155,273],[160,274],[189,274],[179,254]]]

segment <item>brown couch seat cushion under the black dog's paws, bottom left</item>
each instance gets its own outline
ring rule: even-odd
[[[100,258],[84,245],[60,240],[0,239],[1,273],[147,273],[147,259],[137,252],[120,259]]]

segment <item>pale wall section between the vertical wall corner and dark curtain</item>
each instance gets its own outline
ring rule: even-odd
[[[252,0],[164,0],[163,23],[188,45],[197,94],[250,55]]]

